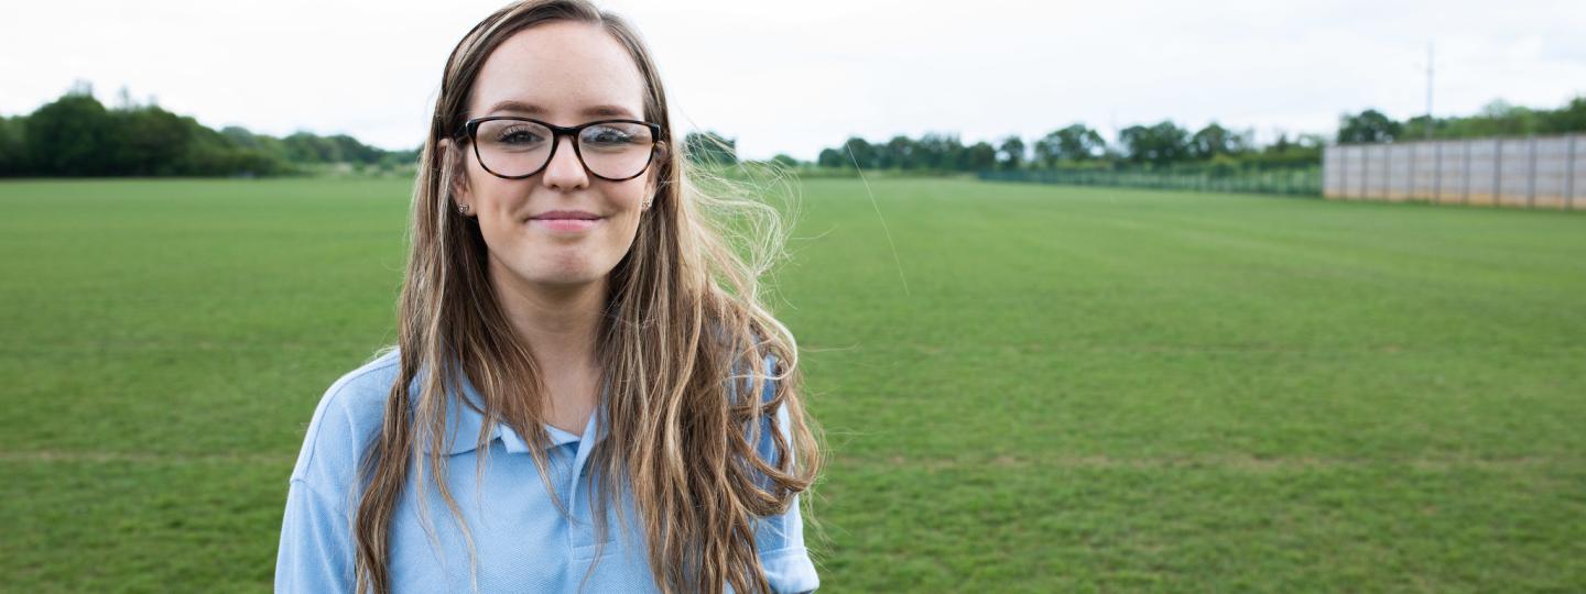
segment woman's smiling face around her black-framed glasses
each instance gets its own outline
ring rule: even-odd
[[[644,78],[623,46],[598,25],[541,24],[514,33],[485,59],[468,106],[469,119],[484,116],[520,116],[563,127],[644,120]],[[485,139],[484,130],[479,139]],[[598,282],[633,246],[641,211],[655,190],[657,163],[634,179],[606,181],[584,168],[574,141],[557,138],[550,163],[525,179],[496,177],[481,166],[471,146],[460,147],[468,181],[457,203],[479,220],[493,282]],[[596,220],[546,215],[555,211]]]

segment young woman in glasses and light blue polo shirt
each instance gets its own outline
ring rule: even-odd
[[[463,36],[423,144],[400,342],[314,412],[278,591],[818,586],[799,515],[814,425],[796,344],[758,303],[776,250],[728,241],[777,247],[782,227],[685,169],[622,19],[523,2]]]

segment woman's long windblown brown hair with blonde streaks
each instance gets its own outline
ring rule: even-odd
[[[607,279],[596,347],[607,393],[595,413],[609,426],[590,453],[596,529],[606,529],[606,504],[626,488],[657,586],[766,592],[753,520],[785,513],[822,463],[818,429],[799,396],[798,345],[761,303],[760,279],[780,257],[785,227],[772,206],[691,181],[698,173],[671,141],[666,93],[644,43],[625,21],[584,0],[509,5],[474,25],[446,62],[412,196],[400,375],[363,463],[366,486],[354,518],[357,589],[392,589],[390,523],[411,477],[422,485],[428,475],[463,529],[469,559],[476,558],[446,485],[441,445],[447,398],[458,393],[462,377],[482,398],[481,472],[490,429],[508,423],[531,444],[534,464],[549,477],[541,371],[500,309],[477,223],[452,208],[466,157],[439,143],[458,141],[490,52],[512,33],[550,21],[596,24],[620,41],[646,81],[644,117],[663,130],[652,206]],[[768,355],[779,361],[769,375]],[[776,390],[763,401],[752,388],[766,382]],[[777,407],[787,409],[787,434],[769,436],[776,456],[763,459],[757,442],[768,437],[758,428]]]

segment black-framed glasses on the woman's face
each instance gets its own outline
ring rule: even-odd
[[[650,168],[658,152],[660,124],[598,120],[560,127],[528,117],[487,116],[463,124],[474,158],[490,174],[523,179],[542,171],[557,155],[561,136],[573,136],[573,152],[592,176],[620,182]]]

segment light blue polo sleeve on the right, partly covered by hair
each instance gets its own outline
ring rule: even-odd
[[[766,374],[776,372],[776,358],[766,356]],[[761,401],[769,401],[776,396],[776,383],[766,379],[764,393]],[[776,431],[787,436],[788,426],[788,410],[785,406],[777,407],[776,415]],[[776,463],[777,447],[774,436],[771,434],[771,420],[766,420],[766,426],[761,426],[761,439],[757,444],[760,456]],[[788,450],[793,455],[793,450]],[[755,527],[755,545],[760,551],[760,565],[766,572],[766,581],[771,583],[771,591],[774,592],[809,592],[820,588],[820,577],[815,573],[815,564],[809,558],[809,550],[804,548],[804,516],[799,513],[799,497],[793,497],[793,504],[788,510],[769,516],[760,518]]]

